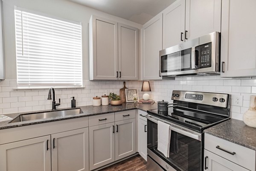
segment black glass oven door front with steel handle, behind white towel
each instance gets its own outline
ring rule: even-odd
[[[170,124],[171,142],[169,157],[157,150],[157,117],[147,115],[148,125],[148,171],[201,171],[202,143],[201,133],[186,130],[181,126]],[[151,169],[150,165],[158,165],[161,169]]]

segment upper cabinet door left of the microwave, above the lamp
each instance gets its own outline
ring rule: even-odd
[[[142,28],[142,79],[160,80],[159,51],[162,50],[162,14],[155,16]]]

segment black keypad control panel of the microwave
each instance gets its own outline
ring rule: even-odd
[[[212,42],[199,46],[199,68],[212,67]]]

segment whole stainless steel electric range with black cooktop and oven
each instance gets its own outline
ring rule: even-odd
[[[168,112],[148,110],[148,171],[203,171],[204,129],[230,119],[229,94],[177,91]],[[157,150],[157,122],[169,124],[169,157]]]

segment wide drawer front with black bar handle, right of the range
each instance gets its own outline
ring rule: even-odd
[[[251,171],[255,170],[256,152],[250,148],[205,133],[204,148]],[[235,154],[234,154],[234,153]],[[233,154],[230,154],[233,153]]]

